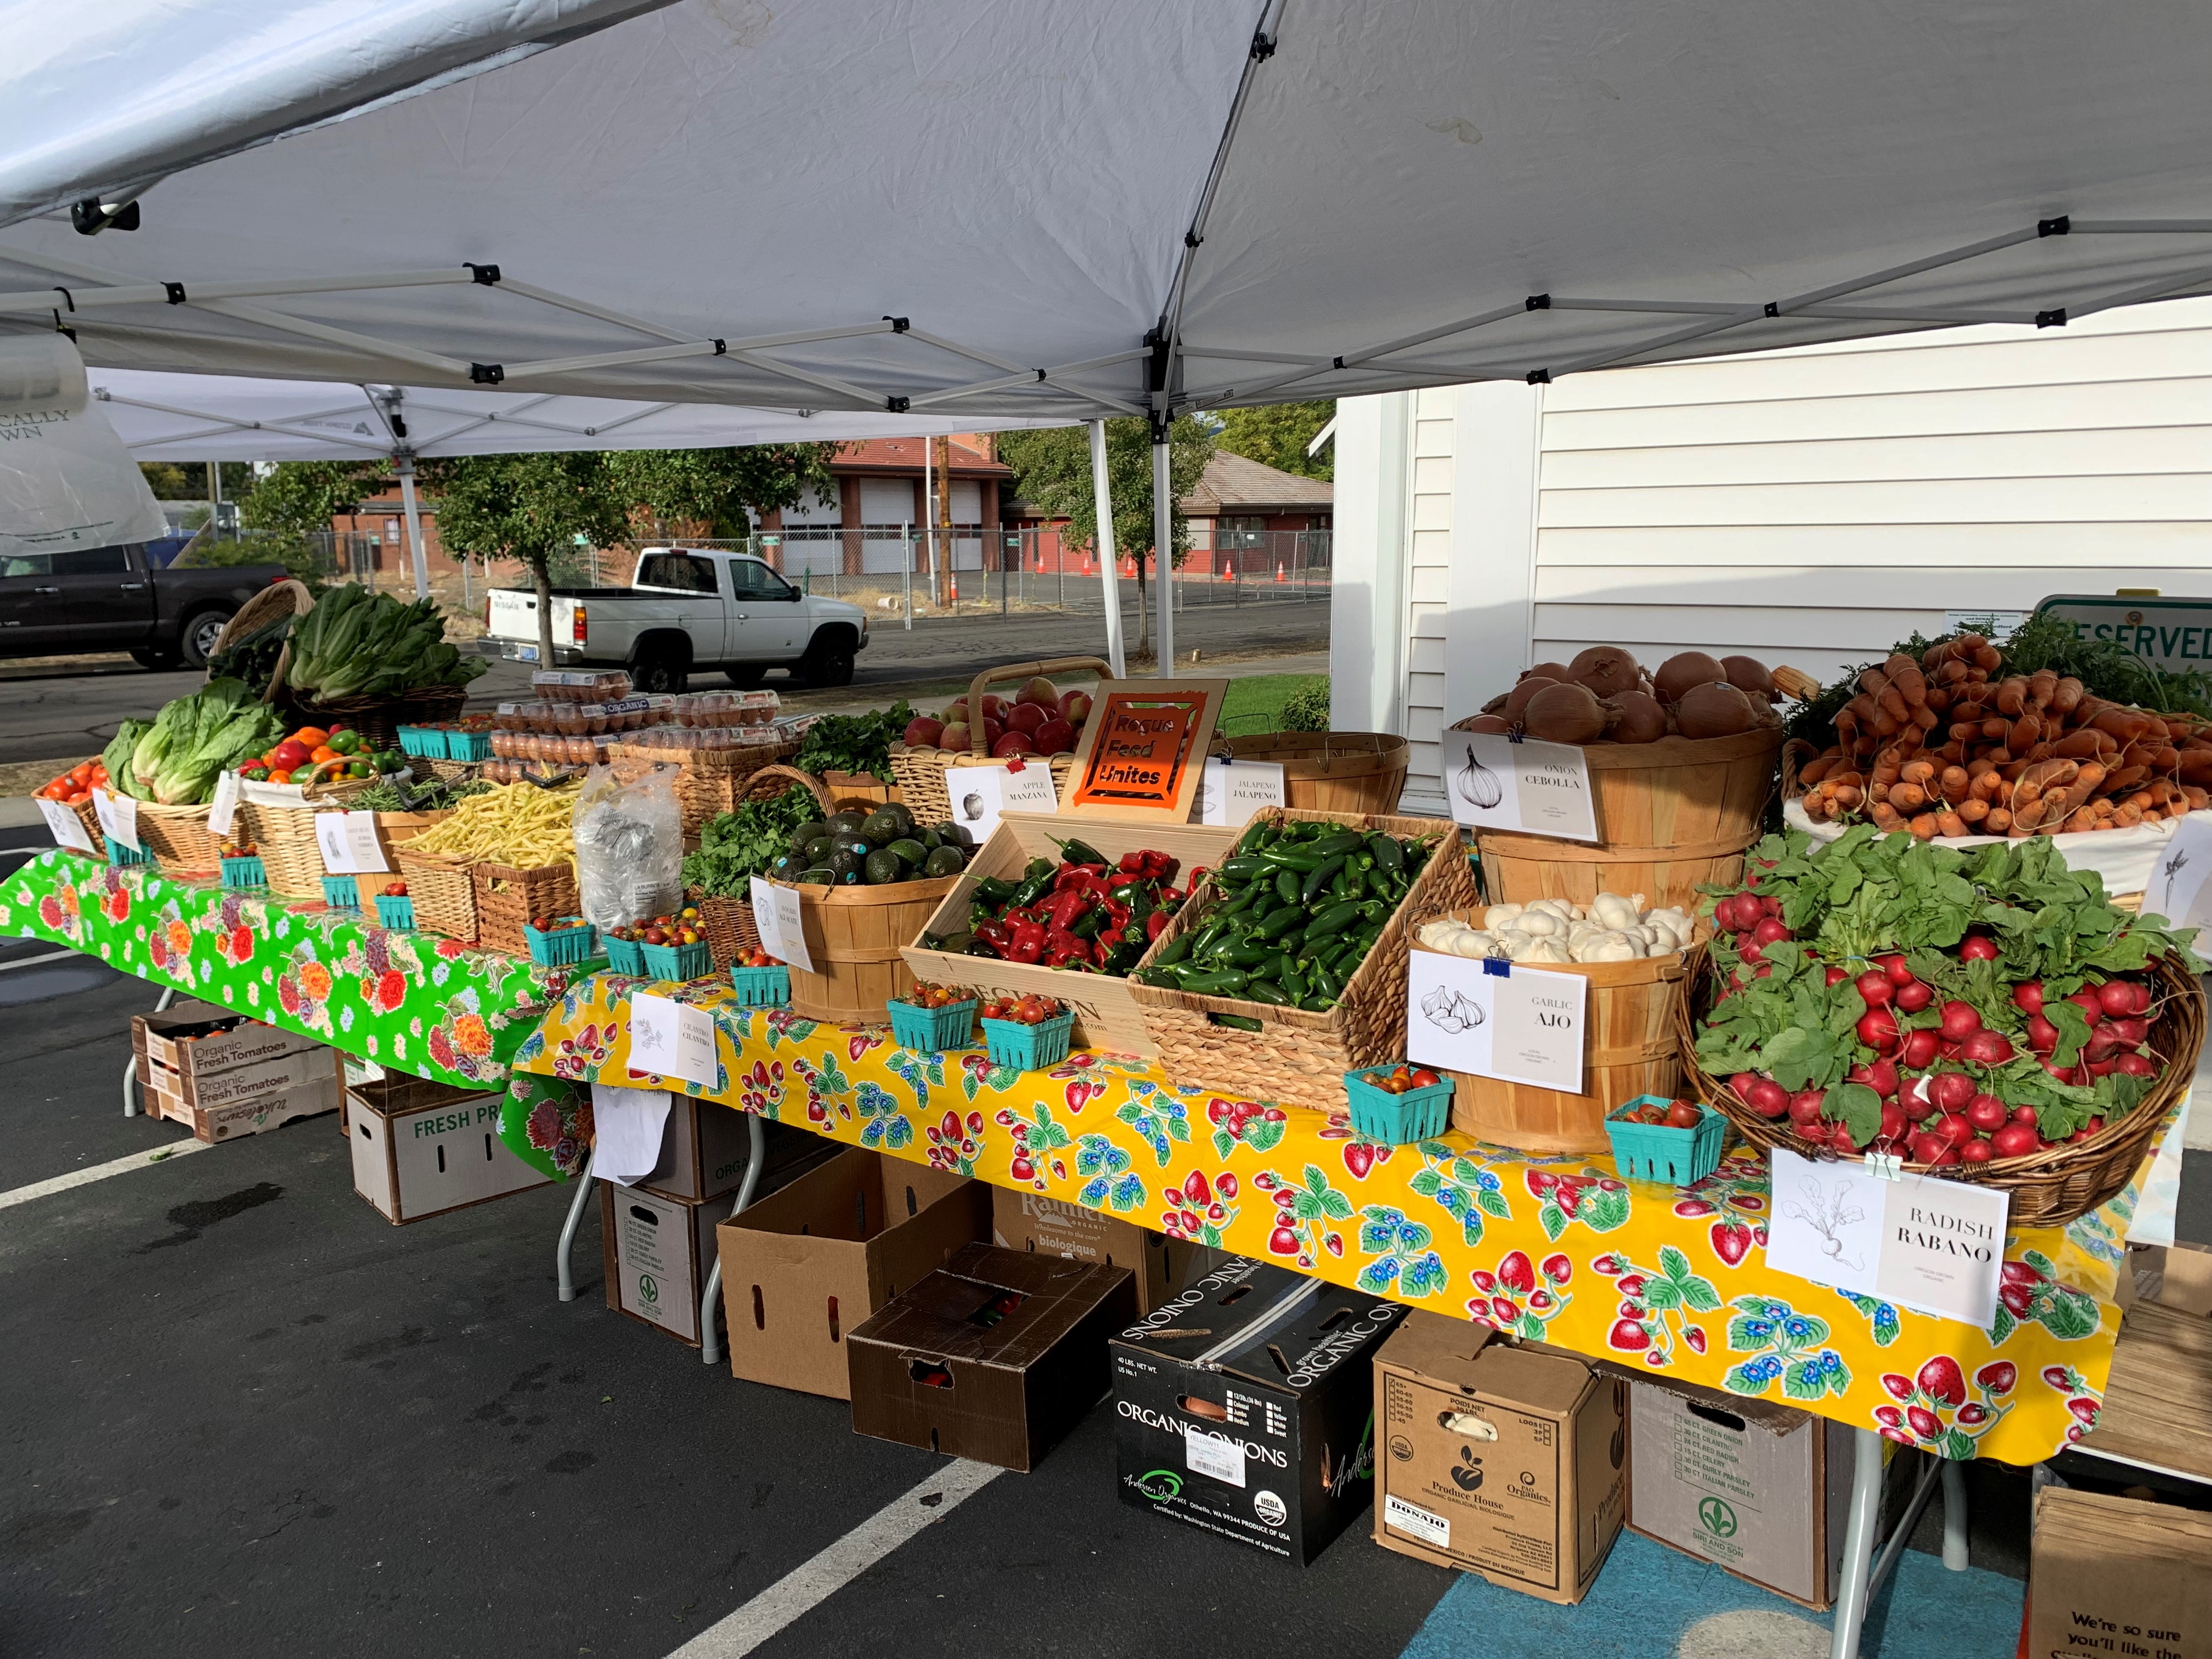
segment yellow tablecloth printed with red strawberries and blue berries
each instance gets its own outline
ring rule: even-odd
[[[628,1071],[626,1000],[648,987],[712,1013],[712,1088]],[[1020,1073],[982,1048],[927,1055],[885,1026],[745,1009],[730,987],[608,973],[571,987],[513,1066],[717,1099],[1947,1458],[2035,1462],[2077,1440],[2119,1334],[2132,1190],[2006,1239],[2002,1307],[1982,1332],[1770,1272],[1767,1175],[1745,1148],[1686,1190],[1621,1181],[1606,1157],[1462,1135],[1391,1148],[1340,1113],[1241,1099],[1128,1055]]]

